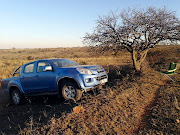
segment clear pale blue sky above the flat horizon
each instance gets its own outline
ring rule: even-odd
[[[0,49],[84,46],[99,16],[149,6],[180,18],[180,0],[0,0]]]

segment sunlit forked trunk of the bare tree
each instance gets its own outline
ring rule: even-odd
[[[131,56],[132,56],[133,66],[136,71],[138,72],[141,71],[142,62],[146,58],[147,52],[148,49],[142,52],[137,52],[136,50],[132,51]]]

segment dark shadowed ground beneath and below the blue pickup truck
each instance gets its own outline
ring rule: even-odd
[[[56,96],[31,97],[24,99],[21,105],[10,105],[9,98],[0,90],[0,135],[18,134],[29,121],[46,124],[51,117],[58,118],[63,112],[70,112],[74,106]]]

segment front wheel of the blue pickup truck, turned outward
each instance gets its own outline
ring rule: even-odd
[[[74,83],[67,82],[62,86],[62,96],[65,100],[74,99],[78,101],[82,97],[82,91]]]

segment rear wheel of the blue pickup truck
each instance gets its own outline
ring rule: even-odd
[[[11,92],[10,100],[14,105],[19,105],[21,103],[22,95],[19,90],[15,89]]]

